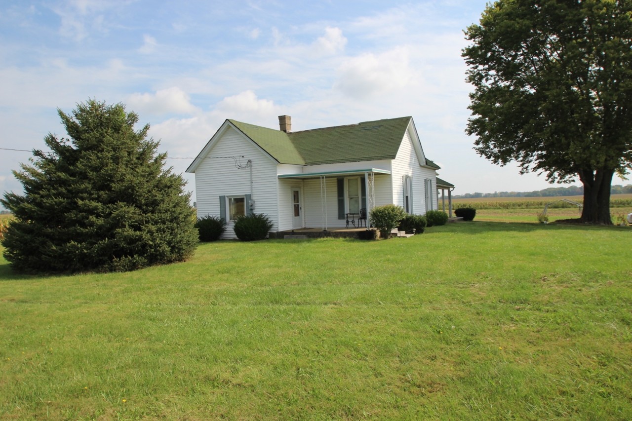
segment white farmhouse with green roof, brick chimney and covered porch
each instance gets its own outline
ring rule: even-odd
[[[438,190],[454,188],[437,178],[411,117],[291,131],[291,118],[279,116],[279,126],[228,119],[186,169],[198,216],[227,221],[222,238],[251,212],[269,216],[273,231],[345,228],[385,204],[425,214],[438,208]]]

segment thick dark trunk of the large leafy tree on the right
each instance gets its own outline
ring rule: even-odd
[[[610,188],[614,171],[598,169],[579,173],[584,186],[584,206],[580,221],[586,224],[612,225],[610,217]]]

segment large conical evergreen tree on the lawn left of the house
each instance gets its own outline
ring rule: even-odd
[[[58,110],[69,138],[49,134],[51,152],[33,151],[14,171],[24,194],[0,200],[15,219],[3,240],[18,271],[128,271],[184,260],[197,230],[185,181],[171,168],[149,125],[123,104],[88,100]]]

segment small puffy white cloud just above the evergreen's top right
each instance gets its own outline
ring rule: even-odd
[[[157,90],[155,94],[132,94],[127,100],[130,109],[139,114],[191,114],[198,111],[190,97],[178,87]]]

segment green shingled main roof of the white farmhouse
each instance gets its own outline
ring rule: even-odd
[[[411,117],[285,133],[229,120],[281,164],[319,165],[394,159]],[[439,168],[432,161],[428,166]]]

